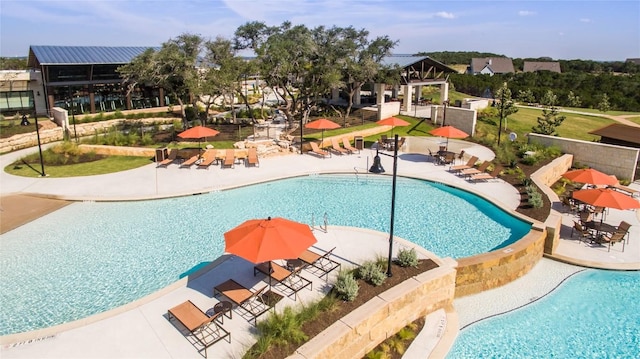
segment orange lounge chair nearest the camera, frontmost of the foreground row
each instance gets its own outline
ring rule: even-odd
[[[172,317],[177,319],[202,344],[204,348],[198,351],[204,350],[205,358],[207,348],[219,340],[227,338],[231,343],[231,333],[217,322],[222,315],[223,312],[219,312],[210,317],[190,300],[169,309],[167,313],[169,320]]]

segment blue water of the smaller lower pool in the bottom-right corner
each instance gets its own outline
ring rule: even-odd
[[[463,329],[447,358],[640,357],[640,271],[587,270],[526,307]]]

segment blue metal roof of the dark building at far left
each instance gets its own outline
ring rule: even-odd
[[[127,64],[147,49],[144,46],[31,46],[41,65]]]

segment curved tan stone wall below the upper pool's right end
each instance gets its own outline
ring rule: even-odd
[[[546,229],[536,223],[519,241],[489,253],[458,259],[456,298],[479,293],[527,274],[542,258]]]

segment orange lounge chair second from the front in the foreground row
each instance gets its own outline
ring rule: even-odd
[[[258,317],[271,309],[263,298],[266,290],[267,286],[265,285],[256,291],[251,291],[235,280],[229,279],[213,287],[213,296],[216,297],[222,294],[227,297],[238,308],[242,308],[249,314],[251,317],[249,320],[253,319],[255,325]]]

